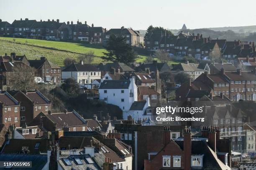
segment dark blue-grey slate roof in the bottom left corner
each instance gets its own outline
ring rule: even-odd
[[[11,168],[12,170],[42,170],[47,163],[47,155],[40,154],[0,154],[1,161],[31,161],[31,168]],[[0,170],[4,170],[6,168],[0,168]]]

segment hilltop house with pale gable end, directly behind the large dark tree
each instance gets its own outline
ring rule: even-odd
[[[110,37],[110,35],[115,35],[115,36],[123,36],[125,37],[125,41],[127,44],[130,44],[131,46],[138,46],[139,42],[137,41],[137,34],[135,31],[131,28],[112,28],[105,32],[103,41],[106,43]]]

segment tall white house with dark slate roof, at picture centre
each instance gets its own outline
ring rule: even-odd
[[[138,100],[135,79],[102,80],[99,87],[100,100],[117,105],[123,111],[128,111],[134,101]]]

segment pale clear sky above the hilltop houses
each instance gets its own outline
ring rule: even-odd
[[[256,0],[0,0],[0,19],[79,20],[103,28],[146,30],[256,25]]]

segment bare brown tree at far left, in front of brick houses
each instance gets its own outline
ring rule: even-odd
[[[15,65],[12,72],[4,74],[7,83],[15,90],[34,90],[37,87],[35,82],[35,69],[27,65]]]

